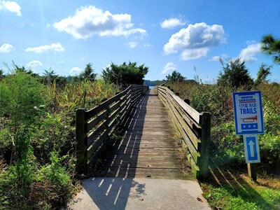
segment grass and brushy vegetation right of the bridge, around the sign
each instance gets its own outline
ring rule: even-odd
[[[226,87],[198,83],[169,83],[182,99],[190,99],[197,111],[211,113],[209,179],[202,184],[212,209],[280,209],[280,85],[260,83],[265,134],[258,135],[259,183],[244,176],[246,163],[243,138],[235,134],[232,92],[248,87]],[[262,178],[262,179],[260,179]],[[278,183],[278,184],[274,184]]]

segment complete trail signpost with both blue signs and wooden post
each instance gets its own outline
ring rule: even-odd
[[[234,92],[235,133],[244,135],[244,149],[248,175],[257,180],[255,165],[260,162],[258,134],[265,132],[262,114],[262,95],[260,91]]]

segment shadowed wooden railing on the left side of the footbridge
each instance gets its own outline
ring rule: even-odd
[[[96,162],[113,132],[125,122],[130,108],[138,102],[148,86],[130,85],[123,92],[86,111],[76,111],[77,169],[86,173],[92,162]]]

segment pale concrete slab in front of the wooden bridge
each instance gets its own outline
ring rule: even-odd
[[[197,181],[90,178],[67,209],[210,209]]]

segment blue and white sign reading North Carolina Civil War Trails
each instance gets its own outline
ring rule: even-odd
[[[260,91],[234,92],[235,133],[263,134],[265,127],[262,114],[262,95]]]

